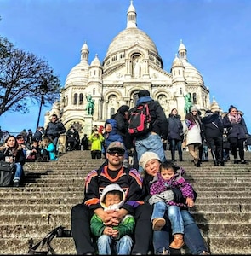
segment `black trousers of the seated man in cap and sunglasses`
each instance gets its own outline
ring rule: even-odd
[[[135,230],[134,247],[132,254],[147,254],[152,241],[151,228],[152,207],[149,204],[143,204],[134,209]],[[93,212],[83,204],[78,204],[71,209],[71,232],[77,254],[95,253],[94,243],[90,231],[90,219]],[[144,235],[144,236],[142,236]]]

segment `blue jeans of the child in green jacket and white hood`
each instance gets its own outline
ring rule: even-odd
[[[111,236],[102,235],[98,238],[97,244],[99,255],[129,255],[131,253],[133,239],[125,235],[116,241]]]

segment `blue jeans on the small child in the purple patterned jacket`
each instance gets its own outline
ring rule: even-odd
[[[184,224],[180,213],[180,207],[169,206],[166,202],[159,201],[153,206],[151,221],[154,218],[164,218],[165,212],[168,212],[168,218],[171,223],[172,234],[184,234]]]

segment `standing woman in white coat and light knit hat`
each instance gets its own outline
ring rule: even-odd
[[[201,160],[199,158],[199,147],[202,144],[201,136],[201,120],[197,114],[198,110],[195,106],[191,107],[191,112],[185,115],[184,135],[185,144],[191,154],[194,165],[201,166]]]

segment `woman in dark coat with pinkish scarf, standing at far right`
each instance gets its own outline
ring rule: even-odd
[[[227,139],[231,144],[231,153],[234,156],[234,164],[238,164],[238,152],[242,164],[244,159],[244,142],[248,137],[248,129],[242,114],[236,107],[230,106],[228,113],[223,119],[224,128],[227,128]]]

